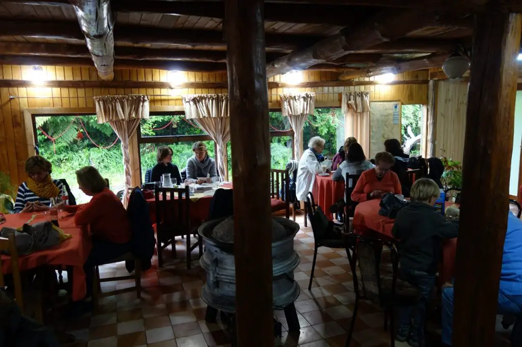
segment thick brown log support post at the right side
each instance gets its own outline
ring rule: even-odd
[[[507,226],[522,15],[476,15],[455,262],[453,345],[490,347]]]

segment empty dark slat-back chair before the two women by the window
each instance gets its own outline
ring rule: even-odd
[[[177,201],[175,197],[177,194]],[[199,256],[203,255],[203,238],[191,228],[190,195],[188,185],[185,188],[156,188],[156,245],[158,247],[158,265],[163,266],[162,251],[172,245],[172,256],[176,257],[176,236],[186,236],[187,269],[191,268],[191,252],[199,247]],[[191,234],[198,241],[191,245]]]

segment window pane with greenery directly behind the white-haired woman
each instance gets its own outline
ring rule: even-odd
[[[333,158],[339,147],[337,146],[337,125],[342,111],[338,107],[315,108],[315,114],[309,116],[303,128],[303,149],[308,148],[308,142],[314,136],[326,140],[323,155]],[[343,140],[344,141],[344,140]]]

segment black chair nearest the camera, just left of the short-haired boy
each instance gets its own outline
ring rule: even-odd
[[[383,247],[386,247],[390,252],[392,277],[381,276]],[[346,253],[352,270],[353,290],[355,292],[355,304],[346,347],[350,345],[361,300],[370,300],[385,309],[384,330],[387,329],[389,317],[390,345],[395,347],[394,308],[398,305],[416,304],[421,297],[419,290],[408,282],[397,279],[398,253],[392,242],[350,233],[347,236]],[[359,263],[360,275],[357,272],[357,263]],[[359,281],[361,281],[362,288],[359,288]]]

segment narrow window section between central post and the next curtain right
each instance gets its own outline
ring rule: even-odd
[[[272,169],[284,170],[293,158],[293,130],[280,111],[270,111],[270,154]]]

